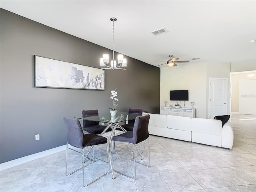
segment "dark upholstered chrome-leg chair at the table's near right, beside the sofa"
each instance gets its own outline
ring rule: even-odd
[[[116,142],[126,142],[126,143],[129,144],[129,152],[128,152],[129,160],[130,160],[130,151],[131,151],[130,150],[130,145],[132,145],[132,152],[133,152],[133,161],[134,161],[134,176],[133,176],[133,178],[128,177],[128,176],[126,176],[124,174],[121,174],[121,173],[115,171],[116,173],[124,175],[124,176],[126,176],[128,178],[131,178],[131,179],[136,179],[136,166],[135,166],[135,163],[138,163],[138,164],[141,164],[141,163],[136,162],[136,160],[135,160],[136,157],[135,157],[135,152],[134,151],[138,150],[138,148],[140,146],[145,145],[147,143],[148,143],[148,151],[147,152],[148,152],[148,156],[149,156],[149,166],[144,165],[144,164],[141,164],[141,165],[146,166],[146,167],[150,167],[150,149],[149,149],[149,133],[148,133],[149,118],[150,118],[149,115],[136,117],[135,122],[134,122],[133,131],[128,131],[128,132],[125,132],[123,134],[114,136],[112,138],[113,141],[116,141]],[[144,142],[145,140],[147,140],[147,142]],[[139,145],[139,143],[140,143],[140,145]]]

